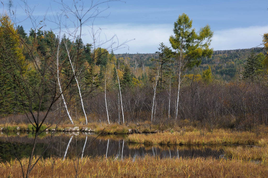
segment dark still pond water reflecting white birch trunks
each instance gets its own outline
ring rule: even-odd
[[[17,135],[19,134],[19,135]],[[30,133],[0,133],[0,161],[28,157],[33,146],[34,134]],[[144,157],[151,155],[160,158],[180,157],[214,157],[224,155],[226,146],[144,146],[143,144],[126,143],[127,136],[96,134],[75,135],[57,133],[51,139],[51,133],[42,133],[38,136],[35,155],[47,157],[81,157],[83,156],[105,156],[114,159],[131,157]],[[95,140],[94,140],[95,139]],[[12,143],[10,143],[9,142]],[[13,150],[14,149],[14,150]],[[43,154],[42,154],[43,153]]]

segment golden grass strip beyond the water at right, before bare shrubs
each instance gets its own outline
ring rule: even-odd
[[[163,132],[154,134],[132,134],[128,135],[129,143],[142,143],[146,145],[267,145],[267,134],[257,135],[254,132],[237,132],[225,129],[214,129],[212,132],[202,130],[183,132]]]

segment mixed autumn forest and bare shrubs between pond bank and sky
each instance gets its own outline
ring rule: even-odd
[[[257,53],[213,51],[209,25],[195,31],[182,14],[174,23],[171,47],[160,43],[155,54],[116,55],[84,44],[81,36],[72,40],[41,29],[27,33],[7,15],[0,21],[1,116],[50,110],[67,123],[267,124],[267,34],[265,49],[256,48]]]

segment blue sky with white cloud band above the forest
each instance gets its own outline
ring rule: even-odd
[[[73,7],[73,1],[63,0],[63,2]],[[101,1],[93,0],[93,3],[95,2]],[[10,8],[9,0],[3,0],[3,3],[3,10],[10,16],[16,12],[16,22],[18,25],[23,25],[25,31],[28,32],[34,26],[29,19],[24,20],[27,16],[23,1],[12,0]],[[58,24],[52,22],[55,21],[56,14],[62,12],[62,5],[57,3],[57,0],[56,2],[28,0],[27,4],[33,9],[32,16],[37,18],[37,21],[43,21],[39,25],[39,27],[44,25],[41,29],[59,32]],[[83,4],[82,1],[78,1],[76,5],[77,7],[83,5],[85,12],[90,8],[91,0],[84,1]],[[207,24],[210,25],[214,32],[211,42],[214,50],[252,48],[260,45],[262,35],[268,32],[267,8],[267,0],[110,1],[98,6],[98,10],[102,12],[94,19],[93,27],[93,18],[83,25],[81,38],[84,43],[92,43],[92,34],[95,34],[96,46],[113,48],[116,54],[154,53],[161,42],[170,46],[168,39],[173,35],[174,22],[180,14],[186,13],[193,20],[193,28],[197,31]],[[96,11],[93,10],[96,8],[91,9],[83,19],[89,17],[92,12],[94,14]],[[44,14],[46,18],[43,20]],[[68,18],[66,24],[69,31],[66,27],[61,27],[61,35],[64,32],[73,32],[75,29],[68,21],[74,18],[70,15]],[[110,40],[112,37],[114,38]],[[102,44],[103,42],[106,43]],[[122,45],[119,49],[116,49],[120,44]]]

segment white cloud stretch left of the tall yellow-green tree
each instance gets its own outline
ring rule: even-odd
[[[114,51],[115,53],[154,53],[157,51],[159,43],[164,42],[169,45],[169,36],[172,34],[172,25],[160,24],[160,25],[98,25],[96,27],[102,28],[101,40],[105,41],[106,38],[110,39],[113,35],[117,35],[119,44],[126,40],[131,40],[128,43],[128,47]],[[96,28],[95,27],[95,28]],[[88,34],[85,32],[85,34]],[[106,37],[106,38],[105,38]],[[84,42],[90,43],[92,38],[90,35],[82,37]],[[133,39],[133,40],[132,40]],[[109,46],[109,42],[103,47]],[[113,47],[115,47],[114,45]]]

